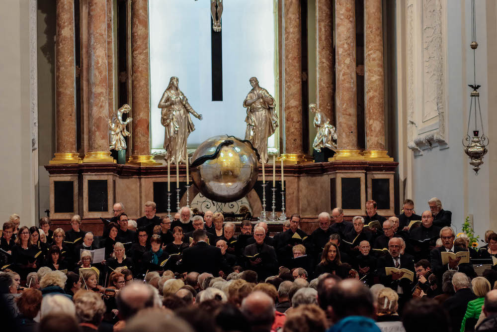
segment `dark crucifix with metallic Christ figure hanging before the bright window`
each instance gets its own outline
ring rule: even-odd
[[[223,0],[211,0],[211,69],[213,102],[223,101],[223,43],[221,35],[222,14]]]

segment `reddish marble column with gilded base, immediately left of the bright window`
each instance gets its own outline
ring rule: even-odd
[[[158,165],[150,155],[149,1],[131,1],[131,113],[133,145],[129,163]]]

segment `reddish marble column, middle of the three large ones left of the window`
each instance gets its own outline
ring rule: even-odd
[[[83,163],[114,162],[109,151],[107,3],[88,0],[88,152]]]

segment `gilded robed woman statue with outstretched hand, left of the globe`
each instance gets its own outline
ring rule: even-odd
[[[166,91],[159,102],[162,109],[161,123],[166,127],[164,137],[164,148],[166,149],[166,161],[171,164],[186,163],[188,154],[186,152],[186,140],[190,132],[195,130],[190,114],[202,119],[202,114],[193,111],[188,100],[178,88],[178,78],[171,77]]]

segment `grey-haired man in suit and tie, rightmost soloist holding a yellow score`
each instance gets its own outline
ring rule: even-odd
[[[464,272],[470,278],[476,277],[475,270],[471,263],[463,263],[459,264],[460,258],[450,259],[447,265],[442,265],[442,252],[459,252],[465,251],[465,249],[461,247],[456,247],[454,245],[454,238],[456,234],[452,227],[445,226],[440,230],[440,238],[442,239],[442,246],[438,248],[434,248],[430,252],[430,264],[431,270],[435,273],[438,280],[438,288],[442,287],[442,275],[447,270],[457,270],[459,272]]]

